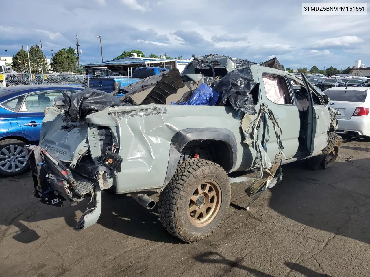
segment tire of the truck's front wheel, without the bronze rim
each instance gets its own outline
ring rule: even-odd
[[[337,135],[336,133],[329,133],[328,141],[329,143],[326,146],[326,148],[323,150],[322,154],[311,157],[306,160],[307,168],[309,168],[310,170],[327,169],[327,168],[330,168],[334,164],[338,156],[339,148],[342,145],[343,138]],[[326,164],[325,163],[326,157],[330,153],[330,151],[332,151],[333,149],[335,151],[333,161],[330,164]]]

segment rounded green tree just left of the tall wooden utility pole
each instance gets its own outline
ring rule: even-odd
[[[73,72],[76,70],[77,57],[72,47],[55,52],[51,68],[54,72]],[[78,71],[78,69],[77,69]]]

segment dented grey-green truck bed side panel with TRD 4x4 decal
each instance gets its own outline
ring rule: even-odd
[[[232,111],[230,107],[228,110]],[[108,107],[88,115],[86,122],[98,126],[104,123],[122,134],[118,140],[122,171],[115,179],[118,192],[123,193],[162,188],[169,164],[176,167],[180,157],[171,140],[179,131],[194,127],[191,122],[195,119],[198,128],[223,127],[237,132],[239,127],[235,112],[225,113],[222,107],[182,105]],[[176,157],[171,163],[169,153],[176,154],[171,155]]]

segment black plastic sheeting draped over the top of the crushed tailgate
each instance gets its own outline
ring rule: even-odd
[[[106,107],[122,105],[121,100],[117,97],[97,89],[86,88],[71,96],[66,93],[63,96],[67,102],[67,118],[70,122],[84,119],[87,114],[103,110]]]

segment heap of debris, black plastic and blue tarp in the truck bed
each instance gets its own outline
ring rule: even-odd
[[[231,104],[235,110],[256,114],[257,96],[250,93],[257,82],[252,78],[247,60],[236,63],[229,56],[216,54],[194,57],[182,74],[177,68],[162,74],[143,79],[145,86],[137,82],[111,94],[123,93],[120,99],[132,105]]]

